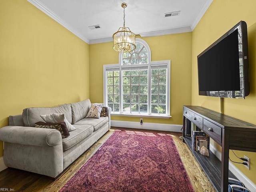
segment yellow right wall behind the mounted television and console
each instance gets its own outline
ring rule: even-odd
[[[192,105],[220,112],[220,98],[198,96],[197,56],[240,20],[248,27],[250,94],[242,99],[224,98],[224,114],[256,124],[256,1],[214,0],[192,32]],[[252,182],[256,183],[256,153],[235,151],[240,157],[251,159],[251,169],[235,164]],[[230,158],[242,162],[230,151]]]

